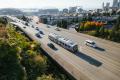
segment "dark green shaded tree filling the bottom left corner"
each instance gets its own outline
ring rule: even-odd
[[[7,42],[0,42],[0,80],[24,80],[17,50]]]

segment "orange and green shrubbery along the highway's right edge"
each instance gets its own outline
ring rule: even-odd
[[[76,30],[78,32],[84,32],[96,37],[101,37],[115,42],[120,42],[120,16],[118,17],[112,29],[105,28],[104,23],[102,22],[87,21],[82,22],[80,24],[80,27]]]

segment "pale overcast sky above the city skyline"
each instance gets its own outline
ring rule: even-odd
[[[0,8],[68,8],[82,6],[84,9],[102,8],[103,2],[113,0],[0,0]]]

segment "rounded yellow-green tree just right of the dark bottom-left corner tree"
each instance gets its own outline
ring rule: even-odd
[[[46,73],[48,67],[45,58],[30,50],[25,53],[22,64],[26,68],[28,80],[36,80],[38,76]]]

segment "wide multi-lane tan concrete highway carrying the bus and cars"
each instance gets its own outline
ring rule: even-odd
[[[14,17],[9,17],[16,20]],[[35,21],[35,20],[34,20]],[[32,27],[23,28],[25,25],[21,22],[13,22],[21,28],[33,40],[41,43],[41,47],[50,55],[58,64],[60,64],[67,72],[69,72],[77,80],[119,80],[120,79],[120,44],[92,37],[89,35],[77,33],[61,29],[56,31],[55,27],[47,28],[47,25],[39,23],[34,24],[45,35],[42,38],[37,38],[35,34],[37,30]],[[79,46],[79,52],[72,53],[63,47],[55,44],[48,39],[48,34],[54,32],[66,38],[75,41]],[[85,40],[94,40],[98,48],[92,48],[84,44]],[[47,46],[48,43],[53,43],[58,49],[52,50]]]

